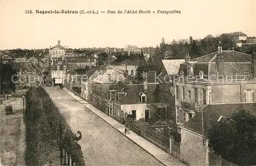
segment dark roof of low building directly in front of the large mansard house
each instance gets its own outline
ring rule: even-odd
[[[256,104],[255,103],[235,103],[235,104],[218,104],[218,105],[207,105],[205,107],[206,112],[203,112],[204,120],[204,135],[207,135],[207,131],[211,126],[211,122],[217,121],[220,116],[228,117],[231,116],[233,111],[244,108],[249,110],[256,115]],[[183,127],[190,130],[196,131],[202,134],[202,114],[197,113],[192,119],[186,122]]]

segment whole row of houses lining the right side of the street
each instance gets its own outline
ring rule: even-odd
[[[145,122],[173,120],[180,128],[180,160],[221,165],[208,148],[207,132],[212,121],[222,123],[233,110],[256,114],[255,61],[255,52],[222,50],[220,42],[216,52],[196,59],[187,53],[182,60],[162,60],[159,70],[145,72],[139,83],[115,66],[93,70],[86,83],[81,80],[81,96],[120,123],[127,115]]]

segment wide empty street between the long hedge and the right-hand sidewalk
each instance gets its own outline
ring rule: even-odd
[[[82,132],[78,143],[87,165],[162,165],[59,87],[46,90],[71,128]]]

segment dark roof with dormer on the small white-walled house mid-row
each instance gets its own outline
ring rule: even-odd
[[[154,92],[158,86],[158,83],[147,84],[147,92],[144,92],[142,84],[133,84],[133,85],[125,85],[122,92],[125,93],[123,98],[120,98],[120,103],[122,104],[136,104],[139,101],[140,92],[146,95],[147,103],[154,102]]]

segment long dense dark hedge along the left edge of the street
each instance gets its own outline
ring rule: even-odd
[[[26,93],[26,165],[44,165],[58,161],[56,151],[70,154],[76,165],[85,165],[76,134],[67,124],[49,94],[41,87],[32,87]],[[60,135],[65,132],[65,141]],[[64,144],[65,143],[65,144]],[[61,147],[61,148],[60,148]]]

